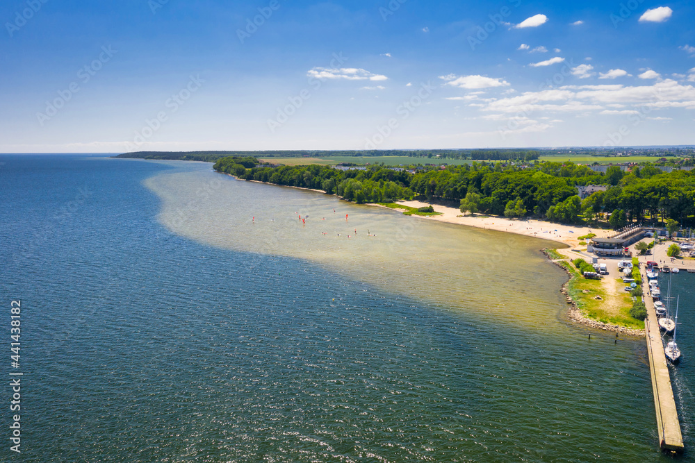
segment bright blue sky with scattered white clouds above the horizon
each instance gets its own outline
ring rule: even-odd
[[[0,18],[0,152],[695,144],[692,1],[8,0]]]

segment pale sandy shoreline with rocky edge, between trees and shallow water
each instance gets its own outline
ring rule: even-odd
[[[261,182],[260,180],[244,180],[241,178],[236,178],[235,176],[233,176],[231,174],[227,174],[225,172],[219,172],[219,173],[224,174],[224,175],[228,175],[231,178],[234,178],[234,180],[239,180],[239,181],[243,181],[243,182],[261,183],[263,185],[272,185],[275,187],[288,187],[288,188],[295,188],[297,190],[306,190],[306,191],[326,194],[326,192],[324,192],[323,190],[315,190],[312,188],[304,188],[304,187],[294,187],[291,185],[277,185],[275,183]],[[337,195],[331,194],[329,196],[337,196]],[[394,202],[397,204],[407,205],[407,206],[410,206],[413,208],[421,208],[423,206],[432,205],[430,203],[423,203],[422,201],[394,201]],[[364,203],[364,205],[394,210],[393,208],[387,208],[385,205],[381,205],[378,203]],[[534,220],[534,219],[523,221],[523,220],[507,219],[506,217],[495,217],[495,216],[484,216],[484,215],[463,216],[461,214],[461,212],[456,208],[451,208],[449,206],[443,206],[443,205],[432,205],[432,207],[435,208],[435,212],[441,212],[441,215],[435,215],[435,216],[413,215],[411,217],[416,217],[418,219],[423,219],[423,220],[442,221],[442,222],[446,222],[449,224],[457,224],[457,225],[462,225],[462,226],[468,226],[471,228],[482,228],[484,230],[496,230],[496,231],[505,232],[505,233],[514,233],[516,235],[525,235],[525,236],[539,238],[539,239],[547,239],[548,241],[554,241],[554,242],[557,242],[559,244],[564,244],[565,246],[568,246],[566,249],[557,249],[557,251],[558,252],[565,251],[562,254],[565,255],[566,258],[569,260],[571,260],[571,256],[566,255],[566,253],[571,253],[573,248],[579,246],[580,240],[578,239],[578,237],[580,237],[582,235],[587,235],[588,233],[596,233],[596,235],[598,235],[598,236],[607,236],[610,233],[610,230],[593,230],[591,228],[582,227],[582,226],[565,226],[565,225],[561,225],[561,224],[553,224],[550,222],[544,222],[544,221],[539,221],[539,220]],[[624,335],[628,335],[628,336],[633,336],[633,337],[643,337],[644,336],[644,330],[635,330],[634,328],[627,328],[625,326],[613,325],[610,323],[604,323],[603,321],[598,321],[598,320],[584,317],[584,315],[582,314],[582,311],[579,309],[576,301],[574,301],[573,298],[571,298],[571,296],[569,296],[568,286],[569,286],[571,279],[573,278],[573,275],[562,264],[559,264],[559,262],[557,262],[557,260],[551,259],[545,250],[541,249],[541,253],[543,253],[543,255],[546,255],[546,258],[548,258],[548,260],[550,262],[553,262],[553,264],[557,265],[557,267],[564,270],[569,276],[567,281],[559,289],[559,292],[566,297],[566,302],[570,305],[569,309],[566,312],[566,317],[570,321],[572,321],[573,323],[579,323],[579,324],[587,326],[589,328],[596,328],[596,329],[610,331],[610,332],[620,332],[620,333],[623,333]]]

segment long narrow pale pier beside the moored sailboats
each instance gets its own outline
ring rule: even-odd
[[[664,353],[664,343],[654,310],[654,302],[648,296],[649,283],[641,269],[642,291],[644,304],[647,308],[647,318],[644,320],[646,332],[647,355],[651,371],[652,389],[654,391],[654,407],[656,409],[656,424],[659,430],[659,446],[668,451],[682,452],[683,436],[680,433],[676,400],[673,398],[673,387],[669,366]]]

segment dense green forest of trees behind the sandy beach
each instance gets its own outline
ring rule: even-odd
[[[613,166],[598,174],[569,162],[534,162],[523,167],[473,162],[409,171],[382,165],[347,170],[319,165],[247,169],[234,158],[223,158],[215,170],[247,180],[322,190],[357,203],[420,196],[460,205],[462,213],[536,217],[567,224],[605,220],[613,228],[631,221],[667,219],[695,225],[695,171],[665,173],[650,164],[630,172]],[[582,200],[578,185],[605,185],[607,190]]]

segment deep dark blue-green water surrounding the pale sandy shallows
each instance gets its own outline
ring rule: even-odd
[[[0,374],[17,371],[13,299],[24,373],[21,460],[3,444],[3,461],[667,458],[641,340],[516,332],[302,260],[172,235],[142,180],[183,163],[0,162]],[[543,323],[560,326],[563,310]],[[7,389],[3,401],[9,423]],[[692,409],[689,393],[680,401]]]

